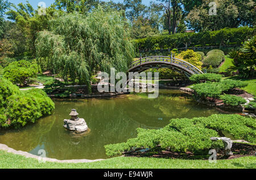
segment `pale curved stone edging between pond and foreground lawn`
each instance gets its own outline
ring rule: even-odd
[[[85,162],[97,162],[97,161],[102,161],[104,159],[98,159],[98,160],[56,160],[56,159],[53,159],[53,158],[42,158],[40,156],[36,156],[34,154],[30,154],[28,152],[24,152],[24,151],[21,151],[21,150],[15,150],[13,148],[9,148],[9,146],[5,145],[5,144],[0,144],[0,150],[5,150],[6,152],[8,153],[13,153],[13,154],[18,154],[20,156],[24,156],[26,158],[35,158],[36,160],[38,161],[46,161],[46,162],[58,162],[58,163],[85,163]]]

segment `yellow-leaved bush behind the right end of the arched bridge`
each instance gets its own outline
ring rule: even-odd
[[[198,69],[202,69],[203,63],[201,62],[201,55],[191,49],[181,52],[177,58],[189,62],[190,64],[196,66]]]

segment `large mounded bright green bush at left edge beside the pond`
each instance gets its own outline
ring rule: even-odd
[[[44,91],[20,91],[10,81],[0,77],[0,127],[23,127],[28,122],[51,114],[55,108]]]

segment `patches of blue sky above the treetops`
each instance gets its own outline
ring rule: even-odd
[[[28,0],[28,2],[30,2],[30,4],[32,5],[32,7],[34,7],[34,9],[37,9],[38,3],[40,2],[44,2],[46,3],[46,7],[50,6],[55,0]],[[101,0],[101,1],[110,1],[110,0]],[[112,0],[113,2],[123,2],[123,0]],[[150,1],[152,0],[142,0],[142,3],[144,5],[150,5]],[[22,3],[26,3],[26,0],[9,0],[9,2],[14,3],[15,5],[18,5],[18,3],[22,2]]]

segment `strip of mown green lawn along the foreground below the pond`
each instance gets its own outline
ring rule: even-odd
[[[217,160],[210,164],[208,160],[180,160],[167,158],[147,157],[115,157],[104,161],[81,164],[62,164],[56,162],[39,163],[34,158],[26,158],[13,153],[0,150],[0,168],[118,168],[118,169],[177,169],[177,168],[254,168],[256,169],[256,157],[241,157],[233,160]]]

